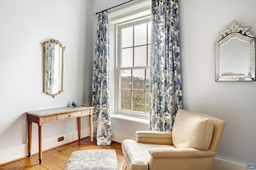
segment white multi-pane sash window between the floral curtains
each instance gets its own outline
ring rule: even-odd
[[[151,18],[117,27],[117,111],[148,117]]]

